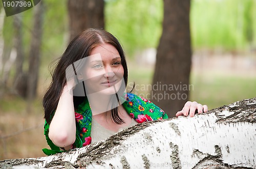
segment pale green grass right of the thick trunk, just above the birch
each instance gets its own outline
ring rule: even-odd
[[[194,85],[195,90],[191,91],[190,100],[207,104],[209,109],[256,97],[255,76],[193,73],[191,84]]]

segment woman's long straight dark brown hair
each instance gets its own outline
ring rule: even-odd
[[[45,110],[45,119],[47,123],[50,124],[51,122],[53,112],[57,108],[60,95],[66,84],[66,69],[68,68],[68,66],[78,60],[81,60],[82,58],[88,57],[92,49],[102,43],[109,43],[113,45],[119,52],[119,55],[121,57],[121,64],[124,69],[123,78],[125,87],[127,86],[128,71],[125,55],[117,38],[102,29],[87,29],[77,35],[70,42],[67,49],[60,57],[53,74],[51,74],[52,82],[42,101],[42,105],[44,106]],[[85,99],[85,97],[86,94],[84,97],[73,96],[74,107],[77,108],[77,106]],[[124,123],[123,120],[118,116],[117,108],[113,108],[111,112],[112,119],[115,123]]]

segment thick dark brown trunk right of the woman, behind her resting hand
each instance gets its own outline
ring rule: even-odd
[[[151,99],[169,117],[174,117],[188,100],[191,65],[189,10],[190,0],[164,1],[163,32],[157,48],[155,89]]]

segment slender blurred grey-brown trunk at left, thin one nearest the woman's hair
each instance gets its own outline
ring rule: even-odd
[[[29,55],[29,72],[27,81],[27,97],[30,101],[36,96],[39,65],[40,65],[40,48],[42,40],[42,20],[43,20],[43,1],[34,7],[34,27],[31,38],[30,55]]]

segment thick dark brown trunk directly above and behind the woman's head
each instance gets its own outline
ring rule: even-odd
[[[70,41],[83,30],[104,28],[104,0],[69,0]]]

